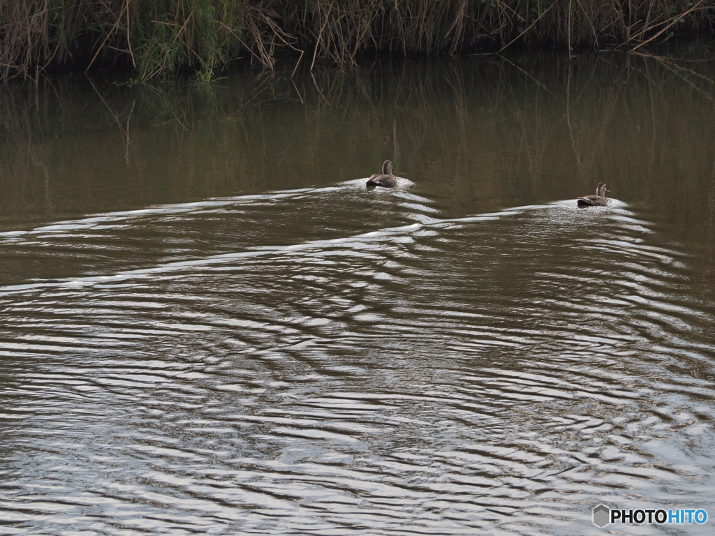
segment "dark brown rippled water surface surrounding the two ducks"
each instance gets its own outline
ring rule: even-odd
[[[0,534],[712,534],[715,64],[289,75],[0,88]]]

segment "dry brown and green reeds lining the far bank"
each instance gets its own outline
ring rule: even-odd
[[[0,77],[51,67],[191,69],[236,61],[355,64],[366,53],[459,54],[528,46],[639,49],[711,34],[715,0],[4,0]]]

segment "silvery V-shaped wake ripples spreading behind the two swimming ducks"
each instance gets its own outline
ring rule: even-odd
[[[443,219],[352,183],[2,234],[61,252],[0,288],[6,533],[596,534],[598,502],[707,506],[715,307],[685,254],[616,201]]]

